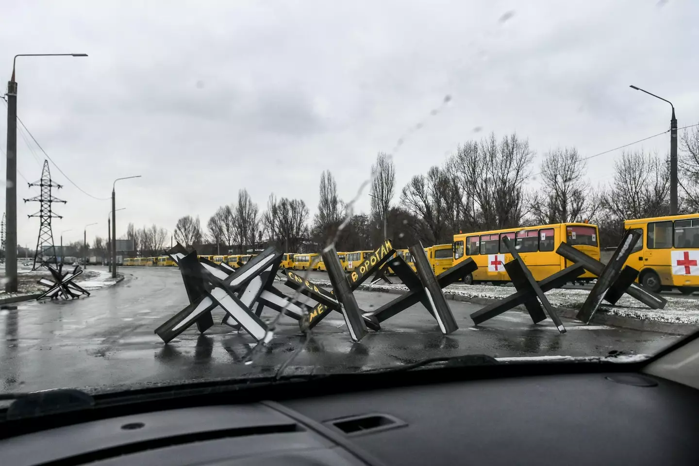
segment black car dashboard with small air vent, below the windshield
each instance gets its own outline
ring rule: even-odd
[[[355,391],[303,383],[254,391],[264,400],[231,391],[191,397],[196,406],[140,403],[125,415],[3,432],[0,458],[18,466],[699,464],[699,393],[682,384],[635,372],[425,383],[433,371],[419,372],[411,375],[419,384],[391,386],[384,376],[373,387],[365,377]]]

